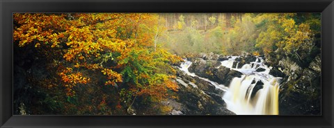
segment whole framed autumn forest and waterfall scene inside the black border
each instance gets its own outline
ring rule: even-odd
[[[14,13],[16,115],[319,115],[320,13]]]

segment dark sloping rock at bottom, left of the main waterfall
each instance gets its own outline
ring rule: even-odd
[[[186,81],[183,76],[187,75],[182,75],[182,77],[177,77],[177,79]],[[220,95],[212,93],[218,89],[215,89],[212,84],[199,77],[193,77],[193,80],[196,82],[195,84],[198,88],[186,87],[178,82],[180,87],[179,91],[177,91],[179,98],[177,98],[176,102],[178,105],[175,106],[173,105],[175,103],[170,102],[170,107],[173,107],[173,110],[175,110],[170,111],[171,115],[181,113],[182,115],[235,115],[235,113],[225,108],[225,102],[221,99]],[[208,95],[205,92],[210,93]]]

